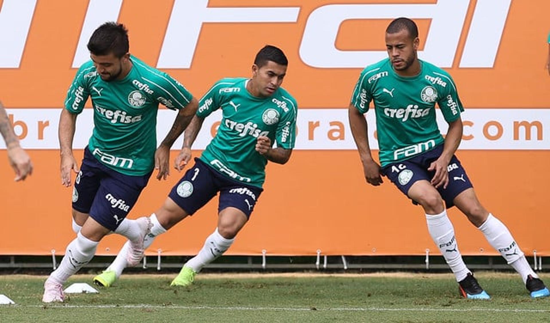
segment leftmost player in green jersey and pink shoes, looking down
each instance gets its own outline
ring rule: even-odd
[[[130,55],[128,31],[122,24],[98,27],[87,44],[91,60],[84,63],[67,92],[59,120],[61,182],[73,188],[73,230],[76,238],[65,249],[59,267],[44,284],[42,302],[63,302],[62,285],[87,264],[97,244],[109,232],[130,240],[128,263],[143,257],[149,218],[124,220],[147,185],[153,168],[166,179],[169,151],[189,125],[198,102],[166,73]],[[76,117],[91,97],[94,131],[79,169],[72,146]],[[172,129],[157,148],[158,104],[179,110]]]

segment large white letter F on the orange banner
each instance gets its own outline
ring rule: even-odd
[[[300,7],[222,8],[208,7],[208,0],[175,0],[157,68],[190,68],[204,23],[295,23],[299,12]]]

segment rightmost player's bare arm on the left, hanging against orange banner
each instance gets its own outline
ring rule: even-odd
[[[351,134],[353,135],[353,140],[357,145],[357,151],[359,151],[359,157],[361,158],[361,163],[363,164],[365,179],[367,180],[367,183],[378,186],[383,183],[383,181],[382,176],[380,175],[380,165],[372,159],[371,148],[368,146],[368,126],[365,116],[360,113],[353,104],[350,104],[348,108],[348,118],[351,127]]]

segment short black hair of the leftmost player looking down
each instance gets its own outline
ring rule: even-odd
[[[129,52],[129,48],[128,30],[114,21],[97,27],[88,42],[88,50],[96,56],[113,53],[121,58]]]

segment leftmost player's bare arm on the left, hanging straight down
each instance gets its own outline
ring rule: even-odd
[[[76,128],[76,114],[61,110],[59,117],[59,151],[61,153],[61,183],[65,187],[71,185],[71,170],[79,172],[78,164],[73,156],[73,138]]]

